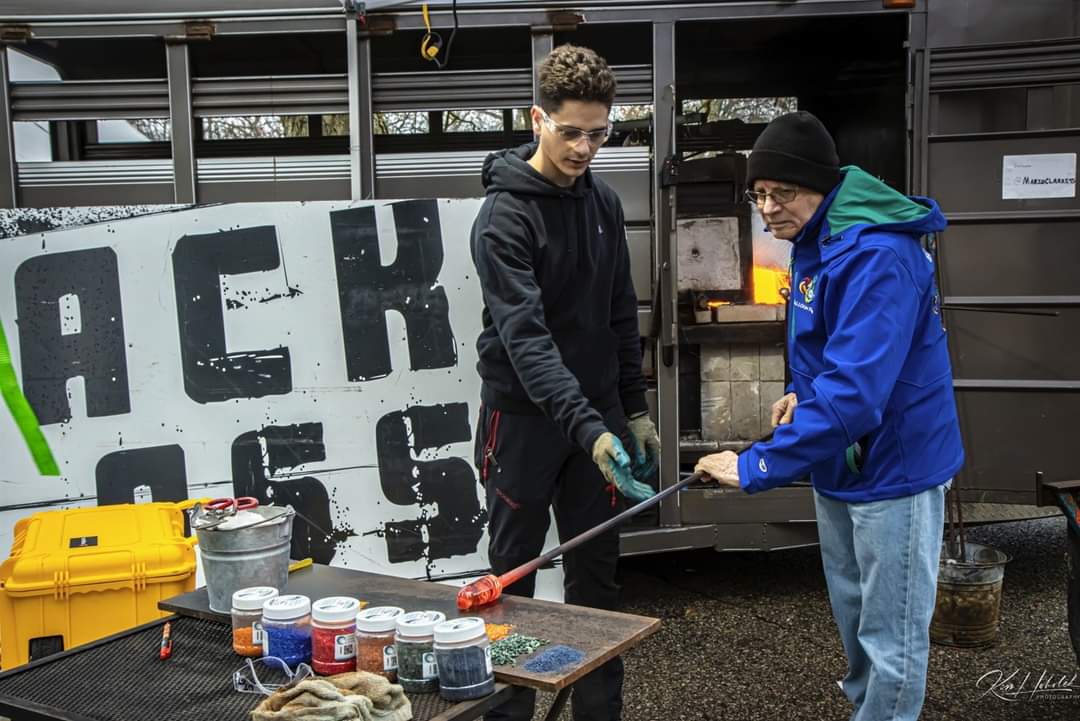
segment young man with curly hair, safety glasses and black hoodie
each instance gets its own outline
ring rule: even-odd
[[[539,79],[537,139],[487,159],[472,229],[484,296],[475,460],[496,573],[540,555],[552,506],[566,540],[615,515],[617,491],[651,496],[642,478],[660,450],[622,205],[589,169],[611,134],[615,74],[593,51],[563,45]],[[615,608],[618,558],[615,530],[566,554],[566,602]],[[507,593],[535,586],[534,574]],[[578,681],[576,721],[618,721],[622,675],[613,658]],[[534,704],[524,691],[486,718],[531,719]]]

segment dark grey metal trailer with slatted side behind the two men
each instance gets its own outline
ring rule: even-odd
[[[729,393],[737,381],[756,382],[760,404],[777,382],[760,375],[761,349],[780,346],[783,332],[782,313],[747,302],[752,281],[731,290],[742,310],[721,308],[724,294],[696,305],[701,294],[683,284],[680,218],[742,213],[733,199],[726,212],[701,204],[738,193],[735,157],[762,124],[694,122],[680,108],[690,98],[797,97],[834,133],[845,162],[946,210],[949,228],[930,249],[968,453],[959,484],[967,501],[1010,504],[981,506],[989,520],[1061,504],[1080,566],[1080,484],[1067,452],[1080,411],[1076,0],[460,0],[456,12],[443,0],[430,3],[432,25],[444,37],[458,27],[445,69],[418,55],[419,3],[225,4],[4,3],[0,206],[477,195],[486,152],[529,138],[512,111],[535,96],[537,59],[563,42],[591,45],[615,67],[618,104],[652,106],[647,142],[609,147],[595,169],[623,199],[643,336],[658,331],[646,365],[667,449],[660,482],[670,485],[700,453],[745,445],[689,437],[705,425],[702,390],[714,382],[703,380],[701,349],[727,348],[728,376],[716,382]],[[11,49],[50,63],[60,80],[11,82]],[[443,111],[473,108],[502,110],[503,128],[443,132]],[[424,113],[428,131],[377,134],[379,112]],[[308,137],[215,140],[202,132],[208,118],[270,113],[308,117]],[[329,114],[347,117],[348,135],[323,132]],[[167,119],[170,138],[98,141],[94,121],[124,118]],[[21,122],[49,123],[49,161],[16,163]],[[634,126],[624,127],[629,137]],[[689,162],[702,153],[729,167]],[[1071,192],[1012,188],[1017,163],[1029,161],[1065,167],[1057,185]],[[746,232],[734,245],[753,254]],[[725,314],[732,322],[716,322]],[[739,344],[758,348],[756,379],[737,378]],[[639,554],[815,538],[810,491],[795,487],[683,493],[622,541],[624,553]],[[1078,597],[1074,581],[1080,653]]]

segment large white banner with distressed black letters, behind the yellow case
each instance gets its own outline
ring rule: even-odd
[[[3,549],[39,509],[254,495],[303,515],[295,558],[485,569],[478,207],[232,204],[0,241],[0,322],[62,472],[0,406]]]

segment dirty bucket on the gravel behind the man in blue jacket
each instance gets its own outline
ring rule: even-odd
[[[930,640],[942,645],[974,648],[998,638],[1001,584],[1009,556],[997,548],[968,543],[963,557],[942,546],[937,601]]]

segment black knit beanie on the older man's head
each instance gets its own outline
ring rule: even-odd
[[[811,113],[799,110],[765,126],[746,163],[746,183],[793,182],[827,194],[840,181],[836,142]]]

